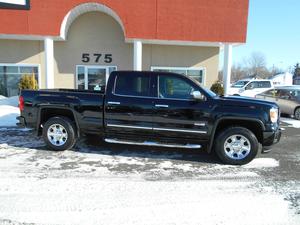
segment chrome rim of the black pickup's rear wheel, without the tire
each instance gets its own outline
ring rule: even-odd
[[[68,132],[62,125],[53,124],[48,128],[47,137],[52,145],[62,146],[68,140]]]

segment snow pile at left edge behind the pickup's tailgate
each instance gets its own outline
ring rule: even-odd
[[[16,117],[20,115],[18,96],[6,98],[0,96],[0,127],[16,126]]]

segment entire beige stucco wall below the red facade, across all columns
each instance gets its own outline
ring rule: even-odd
[[[91,57],[82,62],[82,54],[112,54],[112,63],[99,63]],[[205,86],[218,77],[219,48],[172,45],[143,45],[143,70],[151,66],[203,67]],[[0,63],[40,65],[41,88],[45,88],[44,42],[0,40]],[[78,17],[69,29],[66,41],[54,42],[54,83],[56,88],[75,88],[76,65],[117,66],[132,70],[133,44],[125,43],[123,30],[110,16],[91,12]]]

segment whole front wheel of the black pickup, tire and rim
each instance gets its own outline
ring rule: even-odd
[[[215,139],[215,152],[225,164],[244,165],[258,154],[259,143],[252,131],[244,127],[230,127]]]

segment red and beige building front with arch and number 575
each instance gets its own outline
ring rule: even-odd
[[[24,74],[40,88],[93,90],[114,70],[177,72],[210,87],[220,50],[228,69],[232,46],[246,41],[248,4],[0,0],[0,95],[17,95]]]

